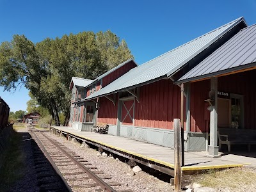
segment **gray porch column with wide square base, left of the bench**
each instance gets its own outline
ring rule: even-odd
[[[209,145],[209,157],[220,157],[218,155],[219,147],[217,146],[218,141],[218,78],[211,77],[211,91],[214,93],[212,99],[214,99],[214,104],[211,106],[210,113],[210,145]]]

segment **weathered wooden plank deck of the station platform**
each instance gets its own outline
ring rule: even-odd
[[[68,127],[52,126],[55,129],[61,131],[70,132],[81,138],[92,140],[100,145],[106,145],[108,147],[115,148],[132,154],[133,156],[143,157],[149,161],[161,163],[169,166],[174,165],[174,150],[173,148],[163,147],[150,143],[132,140],[129,138],[111,136],[108,134],[95,134],[95,132],[88,131],[76,131],[69,129]],[[200,170],[200,169],[214,169],[221,167],[233,167],[241,166],[244,163],[252,163],[252,166],[256,168],[255,158],[246,156],[235,156],[234,154],[227,154],[220,158],[211,159],[207,157],[208,152],[185,152],[185,167],[182,170]],[[174,168],[174,166],[173,166]]]

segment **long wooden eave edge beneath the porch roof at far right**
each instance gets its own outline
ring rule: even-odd
[[[218,72],[214,72],[211,74],[205,74],[203,76],[197,76],[197,77],[191,77],[189,79],[184,79],[184,80],[180,80],[180,81],[175,81],[174,84],[181,84],[181,83],[193,83],[196,81],[204,81],[206,79],[210,79],[211,77],[221,77],[221,76],[229,76],[232,74],[237,74],[240,72],[245,72],[248,70],[255,70],[256,69],[256,62],[254,63],[250,63],[250,64],[246,64],[246,65],[241,65],[238,67],[233,67],[233,68],[227,68],[225,70],[220,70]]]

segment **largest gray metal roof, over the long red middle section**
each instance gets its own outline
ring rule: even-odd
[[[120,90],[127,90],[140,84],[147,84],[152,81],[157,81],[157,79],[160,78],[172,76],[172,74],[177,72],[185,63],[204,51],[209,45],[216,42],[216,40],[221,38],[227,31],[234,28],[234,26],[242,21],[245,23],[243,17],[240,17],[184,45],[180,45],[153,60],[147,61],[136,68],[132,68],[129,72],[108,84],[108,86],[86,97],[86,100],[115,93]]]

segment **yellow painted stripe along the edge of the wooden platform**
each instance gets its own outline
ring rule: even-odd
[[[52,128],[58,129],[56,127],[52,127]],[[61,129],[58,129],[58,130],[63,131]],[[65,132],[68,132],[70,134],[74,134],[76,136],[79,136],[80,138],[83,138],[83,139],[86,139],[86,140],[89,140],[89,141],[93,141],[95,143],[99,143],[100,145],[104,145],[106,147],[115,148],[116,150],[120,150],[122,152],[125,152],[127,154],[131,154],[133,156],[138,156],[138,157],[147,159],[149,161],[153,161],[155,163],[164,164],[165,166],[168,166],[168,167],[174,169],[174,164],[172,164],[172,163],[167,163],[165,161],[161,161],[161,160],[154,159],[154,158],[151,158],[151,157],[143,156],[141,154],[137,154],[137,153],[131,152],[129,150],[125,150],[123,148],[118,148],[118,147],[115,147],[113,145],[109,145],[107,143],[102,143],[100,141],[93,140],[92,138],[87,138],[86,136],[82,136],[82,135],[76,134],[74,132],[70,132],[70,131],[65,131]],[[184,167],[181,168],[181,170],[182,171],[195,171],[195,170],[210,170],[210,169],[220,169],[220,168],[234,168],[234,167],[244,166],[246,164],[250,164],[250,163],[244,163],[244,164],[220,164],[220,165],[208,165],[208,166],[184,166]]]

